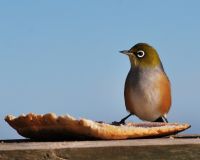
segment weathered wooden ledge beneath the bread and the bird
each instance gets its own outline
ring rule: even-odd
[[[0,160],[199,160],[199,137],[60,142],[2,140]]]

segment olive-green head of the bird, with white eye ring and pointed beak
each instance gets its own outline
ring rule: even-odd
[[[120,53],[129,56],[132,67],[148,68],[162,65],[157,51],[147,43],[138,43]]]

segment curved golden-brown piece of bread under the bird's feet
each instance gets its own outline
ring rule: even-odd
[[[8,115],[5,121],[21,136],[31,139],[129,139],[144,137],[162,137],[172,135],[190,127],[179,123],[126,123],[111,125],[70,115],[57,116],[54,113],[44,115],[29,113],[15,117]]]

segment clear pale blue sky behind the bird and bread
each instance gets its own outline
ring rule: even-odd
[[[157,49],[171,80],[169,121],[199,133],[199,7],[197,0],[1,1],[0,139],[20,138],[7,114],[121,119],[130,64],[118,51],[138,42]]]

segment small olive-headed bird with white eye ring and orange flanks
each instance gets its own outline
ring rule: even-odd
[[[167,122],[166,114],[171,106],[170,81],[157,51],[146,43],[138,43],[120,52],[128,55],[131,63],[124,89],[130,114],[120,123],[131,115],[145,121]]]

